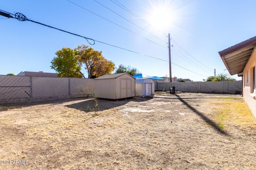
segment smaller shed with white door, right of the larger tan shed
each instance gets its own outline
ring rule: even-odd
[[[136,79],[135,80],[135,95],[150,96],[155,93],[155,83],[151,79]]]

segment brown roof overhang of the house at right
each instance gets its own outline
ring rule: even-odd
[[[256,45],[256,36],[219,52],[231,75],[242,73]]]

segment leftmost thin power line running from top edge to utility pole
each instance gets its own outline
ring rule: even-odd
[[[67,0],[67,1],[68,1],[69,3],[71,3],[71,4],[74,4],[74,5],[76,5],[76,6],[80,7],[80,8],[82,8],[82,9],[84,9],[84,10],[87,11],[87,12],[90,12],[90,13],[92,13],[92,14],[94,14],[94,15],[96,15],[96,16],[99,16],[100,18],[102,18],[102,19],[104,19],[104,20],[110,22],[110,23],[113,23],[113,24],[117,25],[117,26],[120,27],[120,28],[123,28],[123,29],[125,29],[125,30],[127,30],[127,31],[129,31],[129,32],[131,32],[131,33],[134,33],[135,35],[137,35],[137,36],[139,36],[139,37],[141,37],[141,38],[144,38],[144,39],[150,41],[151,43],[154,43],[154,44],[157,44],[157,45],[159,45],[159,46],[162,46],[162,47],[166,48],[166,46],[163,46],[163,45],[161,45],[161,44],[159,44],[159,43],[156,43],[156,42],[153,41],[153,40],[150,40],[150,39],[148,39],[148,38],[146,38],[146,37],[144,37],[144,36],[141,36],[141,35],[139,35],[139,33],[134,32],[134,31],[132,31],[132,30],[129,30],[129,29],[123,27],[122,25],[119,25],[118,23],[116,23],[116,22],[114,22],[114,21],[110,21],[109,19],[107,19],[107,18],[105,18],[105,17],[103,17],[103,16],[101,16],[101,15],[99,15],[99,14],[93,12],[93,11],[90,11],[90,10],[86,9],[85,7],[83,7],[83,6],[81,6],[81,5],[78,5],[78,4],[76,4],[76,3],[72,2],[72,1],[69,1],[69,0]]]

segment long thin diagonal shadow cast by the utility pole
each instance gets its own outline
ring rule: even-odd
[[[212,126],[212,128],[221,133],[221,134],[225,134],[225,135],[230,135],[228,132],[226,132],[225,130],[222,130],[221,128],[219,128],[219,126],[212,121],[210,118],[208,118],[207,116],[205,116],[202,112],[197,111],[196,108],[194,108],[193,106],[189,105],[185,100],[183,100],[179,95],[174,94],[175,96],[178,97],[178,99],[184,104],[186,105],[191,111],[193,111],[195,114],[197,114],[198,116],[200,116],[206,123],[208,123],[209,125]]]

